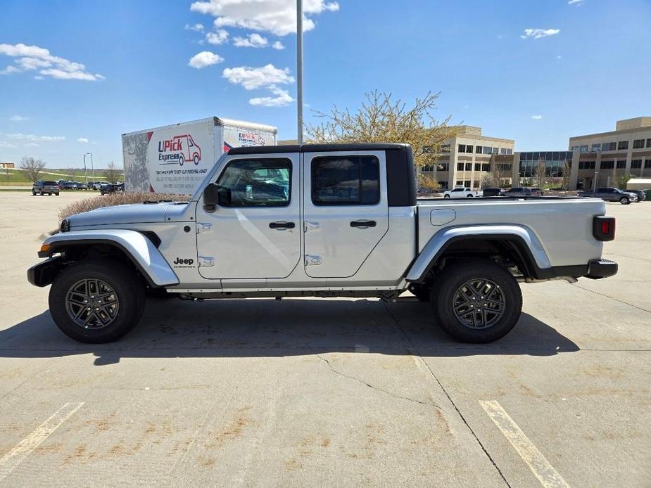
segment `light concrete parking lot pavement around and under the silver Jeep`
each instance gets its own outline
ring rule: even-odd
[[[617,276],[522,285],[491,345],[409,294],[153,300],[82,345],[25,271],[84,197],[0,193],[0,486],[651,486],[651,203],[607,204]]]

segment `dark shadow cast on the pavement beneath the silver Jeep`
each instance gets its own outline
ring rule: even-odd
[[[429,304],[379,300],[150,300],[139,325],[118,342],[82,344],[66,337],[49,311],[0,331],[0,357],[92,353],[95,364],[123,357],[284,357],[324,352],[553,356],[579,347],[529,314],[502,340],[461,344],[434,324]]]

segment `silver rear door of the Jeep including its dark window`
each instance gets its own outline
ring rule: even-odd
[[[384,151],[303,158],[305,274],[348,278],[388,231]]]

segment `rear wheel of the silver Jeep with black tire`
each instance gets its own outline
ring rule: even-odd
[[[490,325],[485,328],[476,328],[475,326],[464,323],[464,319],[472,321],[475,319],[481,321],[481,308],[476,309],[474,319],[472,315],[467,315],[464,319],[457,318],[455,314],[455,303],[459,303],[458,298],[463,297],[464,293],[469,292],[469,288],[464,288],[466,283],[472,281],[491,281],[495,286],[488,290],[491,297],[496,298],[495,302],[503,301],[503,313],[495,318],[495,312],[490,307],[495,305],[488,304],[488,317],[493,317],[493,321],[488,321]],[[457,295],[457,293],[459,295]],[[495,295],[493,295],[495,293]],[[468,293],[475,303],[473,307],[482,307],[486,310],[486,303],[482,302],[481,293]],[[488,294],[487,294],[488,295]],[[486,299],[486,297],[483,297]],[[443,272],[434,280],[434,286],[431,290],[430,301],[434,309],[434,318],[441,328],[448,335],[460,342],[470,342],[475,344],[484,344],[503,338],[509,333],[517,323],[520,313],[522,312],[522,292],[520,287],[509,271],[500,267],[489,259],[463,259],[450,264],[443,269]],[[461,313],[467,308],[459,309]]]

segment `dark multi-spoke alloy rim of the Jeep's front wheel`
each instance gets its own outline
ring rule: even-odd
[[[77,281],[65,296],[65,311],[77,326],[101,329],[118,316],[120,300],[113,288],[96,278]]]

